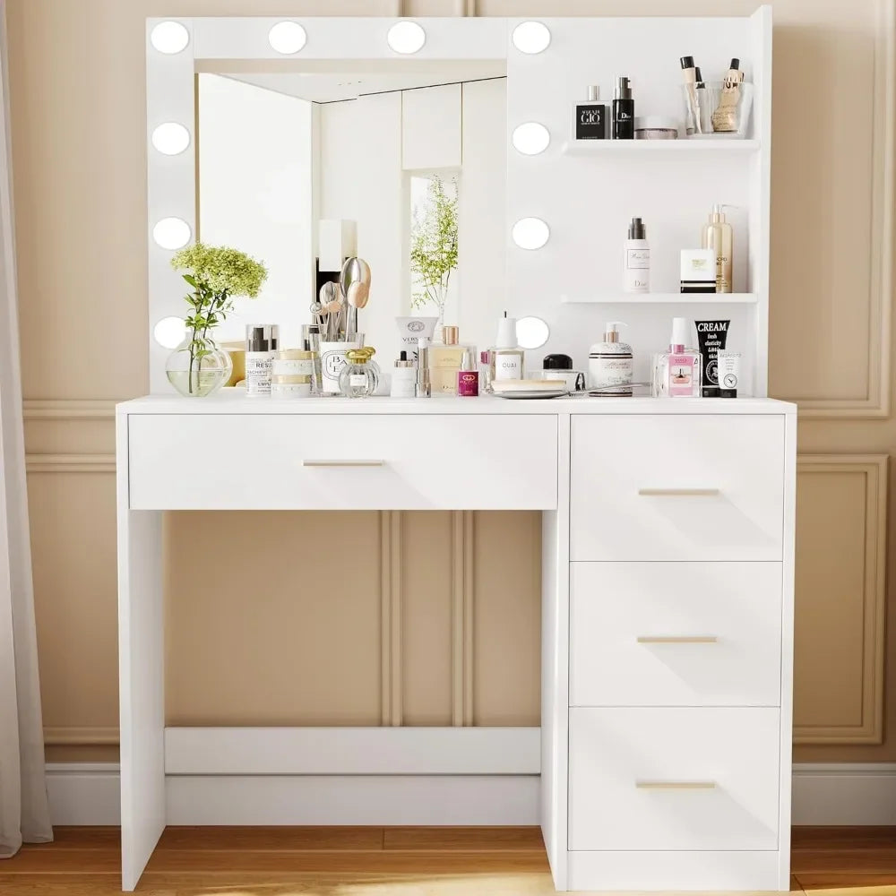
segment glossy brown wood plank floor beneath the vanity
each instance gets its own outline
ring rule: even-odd
[[[896,828],[796,828],[796,892],[896,896]],[[0,896],[120,892],[117,828],[56,828],[0,861]],[[146,896],[547,896],[537,828],[168,828]]]

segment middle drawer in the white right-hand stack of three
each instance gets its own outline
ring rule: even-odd
[[[779,706],[780,563],[574,563],[573,706]]]

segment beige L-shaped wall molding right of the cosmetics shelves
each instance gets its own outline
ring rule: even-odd
[[[896,0],[877,0],[874,48],[874,138],[871,283],[868,321],[868,394],[849,400],[800,399],[801,418],[887,418],[891,408],[893,212],[896,206]]]

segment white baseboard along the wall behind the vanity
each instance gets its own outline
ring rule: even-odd
[[[118,824],[118,766],[47,764],[54,824]],[[537,775],[184,775],[171,824],[538,824]],[[896,762],[795,765],[794,824],[896,824]]]

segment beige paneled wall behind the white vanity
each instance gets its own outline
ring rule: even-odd
[[[47,753],[114,753],[111,402],[145,391],[143,19],[289,0],[8,0],[30,510]],[[465,0],[408,0],[454,14]],[[676,14],[755,0],[679,0]],[[776,0],[771,391],[800,400],[797,759],[896,759],[883,621],[896,0]],[[301,7],[301,8],[299,8]],[[395,14],[398,0],[327,0]],[[668,13],[668,0],[479,0],[480,14]],[[886,17],[889,16],[889,19]],[[670,47],[670,59],[686,47]],[[888,143],[887,141],[891,142]],[[340,586],[314,539],[342,530]],[[340,545],[345,544],[340,538]],[[172,514],[168,717],[534,724],[534,514]],[[513,546],[512,548],[510,546]],[[532,548],[531,552],[529,547]],[[221,550],[221,548],[226,548]],[[341,549],[341,548],[340,548]],[[208,573],[196,556],[214,556]],[[259,587],[244,557],[264,569]],[[896,642],[896,641],[892,641]],[[889,683],[892,685],[892,681]],[[886,699],[885,699],[886,698]]]

